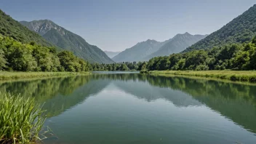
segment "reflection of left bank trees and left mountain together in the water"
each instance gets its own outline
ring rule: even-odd
[[[84,101],[89,95],[100,92],[108,83],[90,81],[90,76],[12,81],[0,84],[0,92],[11,92],[25,97],[35,97],[44,103],[47,115],[56,116]],[[97,86],[97,87],[96,87]]]

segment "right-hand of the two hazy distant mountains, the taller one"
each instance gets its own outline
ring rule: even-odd
[[[206,36],[207,35],[191,35],[190,33],[177,34],[171,41],[160,47],[158,51],[148,55],[145,60],[149,60],[152,57],[182,52],[185,48],[190,47],[192,44],[204,39]]]

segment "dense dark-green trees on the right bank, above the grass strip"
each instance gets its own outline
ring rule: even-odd
[[[147,63],[149,71],[154,70],[255,70],[256,36],[249,44],[231,44],[209,50],[153,57]]]

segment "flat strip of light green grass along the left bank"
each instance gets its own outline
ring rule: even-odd
[[[0,80],[11,79],[30,79],[30,78],[44,78],[56,76],[81,76],[88,75],[91,72],[7,72],[0,71]]]

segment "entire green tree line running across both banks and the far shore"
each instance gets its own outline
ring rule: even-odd
[[[256,36],[248,44],[230,44],[212,49],[193,50],[148,62],[112,64],[88,63],[72,52],[57,52],[55,47],[22,44],[8,36],[0,36],[1,71],[129,71],[129,70],[255,70]]]

